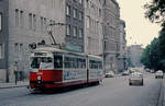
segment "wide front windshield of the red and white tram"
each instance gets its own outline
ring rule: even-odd
[[[53,68],[53,59],[51,57],[33,57],[31,58],[31,68],[51,69]]]

